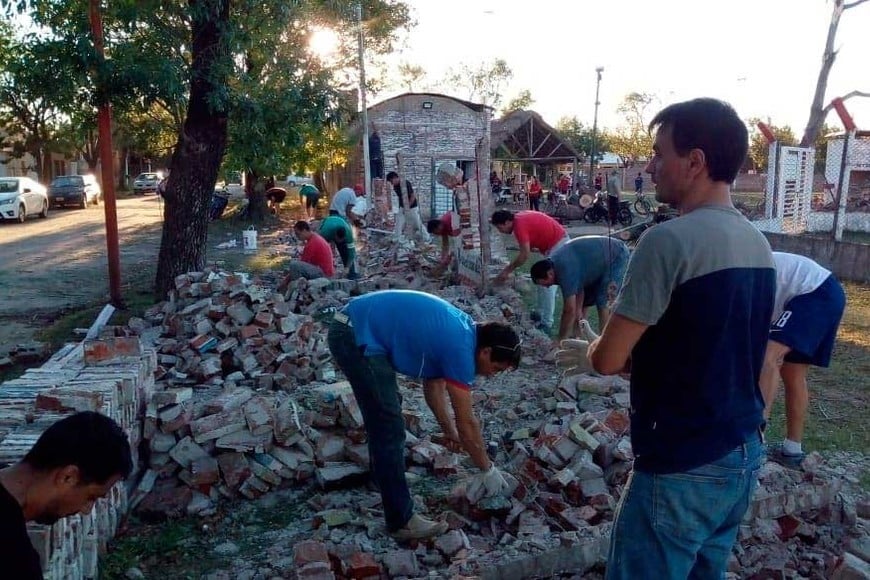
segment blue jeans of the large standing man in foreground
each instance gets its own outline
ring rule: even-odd
[[[724,578],[763,461],[759,435],[695,469],[635,471],[617,508],[607,580]]]

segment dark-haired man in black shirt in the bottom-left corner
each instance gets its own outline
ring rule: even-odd
[[[77,413],[49,427],[24,459],[0,471],[0,576],[42,580],[26,522],[50,526],[87,514],[132,470],[127,436],[109,417]]]

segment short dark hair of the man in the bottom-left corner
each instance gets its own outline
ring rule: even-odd
[[[80,483],[106,483],[133,471],[126,433],[109,417],[84,411],[61,419],[43,433],[24,456],[37,471],[75,465]]]

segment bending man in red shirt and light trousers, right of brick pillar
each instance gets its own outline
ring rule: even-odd
[[[538,211],[521,211],[516,214],[506,209],[500,209],[492,214],[492,225],[503,234],[513,234],[517,239],[520,252],[505,266],[496,277],[496,283],[506,282],[511,272],[526,263],[532,250],[549,256],[557,248],[561,248],[570,240],[568,232],[562,224],[545,213]],[[538,314],[541,317],[539,327],[549,332],[553,326],[553,310],[556,308],[556,286],[545,288],[538,286]]]

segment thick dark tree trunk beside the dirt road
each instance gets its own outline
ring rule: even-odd
[[[215,103],[226,86],[229,0],[188,0],[192,45],[190,98],[165,194],[155,297],[164,299],[175,277],[205,266],[208,212],[227,142],[227,107]]]

